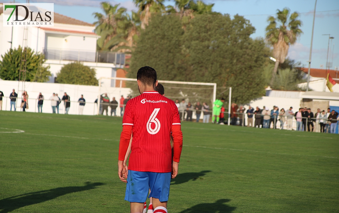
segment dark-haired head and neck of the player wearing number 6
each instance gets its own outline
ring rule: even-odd
[[[137,80],[140,94],[149,88],[155,90],[157,86],[157,72],[150,66],[143,66],[138,70]]]

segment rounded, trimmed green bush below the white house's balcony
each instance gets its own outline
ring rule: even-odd
[[[98,85],[94,68],[83,65],[81,62],[65,64],[57,73],[56,82],[62,84]]]

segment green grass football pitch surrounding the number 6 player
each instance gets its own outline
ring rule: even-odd
[[[0,213],[129,212],[121,123],[0,111]],[[339,135],[189,122],[182,131],[169,213],[339,212]]]

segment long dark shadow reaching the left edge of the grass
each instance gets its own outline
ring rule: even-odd
[[[97,188],[96,186],[104,185],[103,183],[86,182],[85,186],[68,186],[49,189],[44,191],[31,192],[27,194],[20,194],[13,197],[8,197],[0,200],[0,213],[7,213],[19,209],[24,206],[42,203],[59,196],[69,194],[72,192],[86,191]]]

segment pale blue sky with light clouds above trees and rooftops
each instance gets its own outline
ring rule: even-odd
[[[5,2],[0,0],[0,2]],[[8,2],[8,1],[6,1]],[[17,0],[16,3],[25,1]],[[99,7],[100,0],[31,0],[37,3],[55,3],[54,11],[62,15],[79,19],[88,23],[96,21],[93,12],[102,12]],[[132,0],[114,0],[109,1],[111,4],[120,3],[121,6],[126,7],[129,11],[136,10]],[[277,9],[288,7],[292,12],[297,11],[301,13],[300,19],[303,21],[303,34],[298,39],[294,46],[290,47],[288,56],[291,59],[301,61],[305,66],[308,66],[308,57],[311,46],[312,22],[315,0],[204,0],[206,3],[214,3],[213,10],[221,12],[222,14],[242,15],[250,20],[252,25],[256,28],[256,32],[252,37],[264,37],[265,27],[267,26],[267,18],[269,15],[274,15]],[[165,1],[165,5],[174,4],[173,1]],[[339,67],[339,1],[338,0],[319,0],[317,2],[313,51],[312,51],[312,68],[320,68],[325,66],[328,35],[334,36],[332,49],[334,44],[334,51],[330,51],[330,59],[333,67]],[[329,59],[329,60],[330,60]]]

